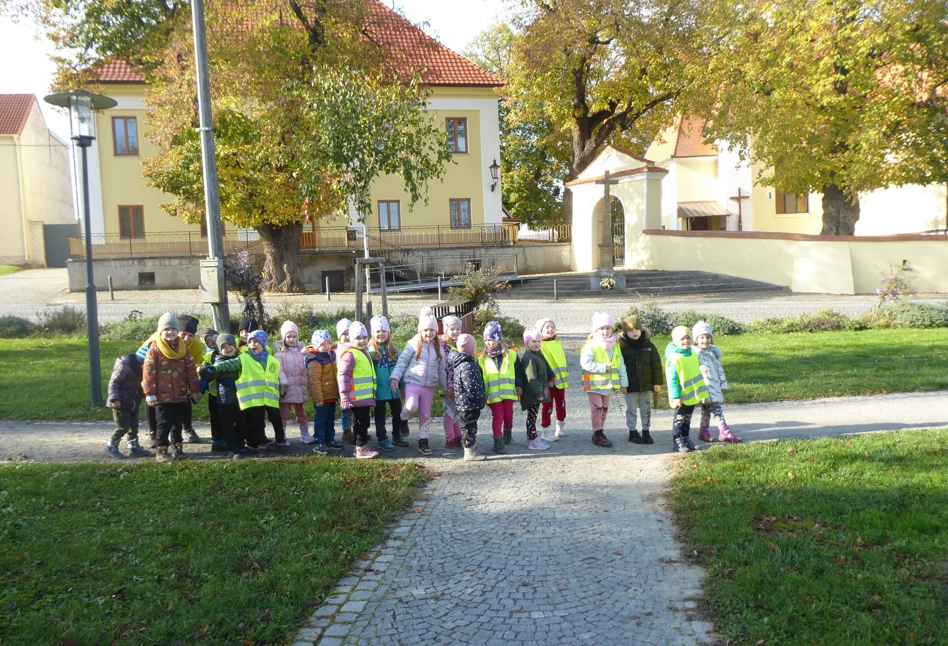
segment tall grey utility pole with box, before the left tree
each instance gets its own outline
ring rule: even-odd
[[[204,170],[204,205],[208,221],[208,257],[219,260],[220,302],[211,305],[214,330],[230,332],[227,281],[224,278],[224,233],[221,226],[221,198],[217,188],[217,157],[214,153],[214,121],[210,111],[208,34],[204,23],[204,0],[191,0],[194,27],[194,65],[197,69],[197,107],[201,127],[201,166]]]

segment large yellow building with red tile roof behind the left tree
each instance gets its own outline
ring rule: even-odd
[[[380,2],[371,4],[366,20],[364,32],[387,51],[390,61],[406,71],[422,70],[422,81],[430,90],[428,110],[442,124],[453,151],[453,163],[448,164],[443,180],[428,184],[427,205],[419,202],[410,208],[410,196],[398,177],[376,180],[371,189],[370,234],[401,245],[438,235],[463,237],[483,225],[501,226],[501,189],[490,167],[501,158],[496,90],[503,81]],[[89,150],[91,229],[94,235],[106,234],[94,237],[93,242],[148,240],[155,234],[189,232],[200,243],[203,227],[169,216],[161,205],[172,198],[147,188],[141,177],[142,160],[158,152],[147,136],[148,85],[144,81],[125,63],[109,63],[100,70],[104,93],[118,105],[100,112],[98,139]],[[317,228],[326,231],[354,222],[350,212],[322,221]],[[256,238],[252,231],[244,235]],[[302,244],[311,240],[304,235]]]

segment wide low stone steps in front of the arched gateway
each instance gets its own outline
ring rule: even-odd
[[[586,274],[549,274],[537,278],[524,277],[520,285],[512,285],[501,298],[552,298],[553,281],[560,298],[576,296],[669,296],[675,294],[722,294],[727,292],[789,292],[789,287],[759,280],[697,271],[617,271],[626,277],[626,289],[591,290]]]

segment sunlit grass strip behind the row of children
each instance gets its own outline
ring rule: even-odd
[[[667,341],[655,339],[660,351]],[[948,388],[948,329],[744,334],[718,343],[730,404]],[[137,349],[101,343],[103,391],[115,357]],[[89,405],[87,352],[81,337],[0,339],[0,420],[110,419],[108,409]],[[207,419],[206,400],[194,415]]]

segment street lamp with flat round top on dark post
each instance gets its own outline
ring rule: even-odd
[[[92,405],[102,405],[102,376],[99,363],[99,303],[96,279],[92,271],[92,234],[89,214],[89,158],[87,149],[96,138],[96,110],[116,106],[115,99],[85,90],[57,92],[46,96],[46,103],[69,108],[69,131],[72,140],[82,149],[82,226],[85,233],[85,323],[89,336],[89,379],[92,382]]]

